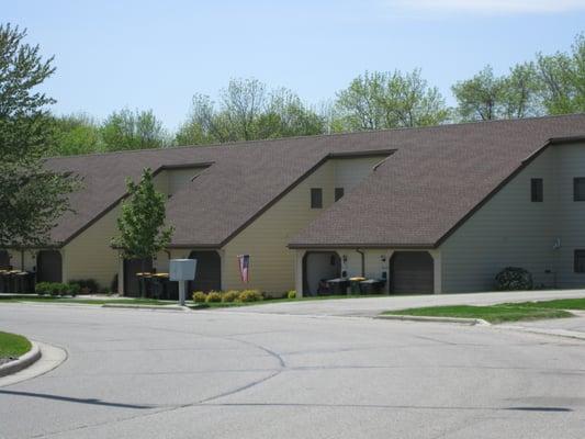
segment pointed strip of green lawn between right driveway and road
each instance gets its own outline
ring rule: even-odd
[[[463,317],[483,318],[490,323],[538,320],[543,318],[571,317],[573,314],[554,307],[524,306],[522,304],[499,304],[492,306],[432,306],[424,308],[409,308],[389,311],[383,314],[434,316],[434,317]]]

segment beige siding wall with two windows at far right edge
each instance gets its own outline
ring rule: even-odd
[[[585,286],[585,273],[574,272],[574,250],[585,249],[585,201],[573,201],[573,178],[585,177],[585,144],[554,146],[555,237],[554,251],[559,288]]]

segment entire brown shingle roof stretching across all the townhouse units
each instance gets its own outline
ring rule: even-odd
[[[167,217],[172,245],[220,247],[328,155],[396,149],[291,244],[434,245],[549,138],[578,135],[583,114],[54,158],[86,187],[52,239],[75,237],[146,166],[213,162],[169,200]]]

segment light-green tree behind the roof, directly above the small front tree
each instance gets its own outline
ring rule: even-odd
[[[109,151],[124,149],[161,148],[168,136],[151,110],[123,109],[110,114],[101,126],[104,148]]]

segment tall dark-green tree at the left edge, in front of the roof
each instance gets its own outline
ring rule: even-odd
[[[47,106],[36,90],[55,71],[26,31],[0,24],[0,247],[44,245],[79,180],[45,166],[54,135]]]

